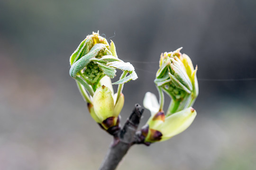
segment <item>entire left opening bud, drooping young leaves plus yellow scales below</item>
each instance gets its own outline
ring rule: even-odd
[[[98,33],[88,35],[70,57],[70,71],[78,88],[88,103],[91,117],[105,130],[119,127],[119,113],[124,104],[122,88],[124,83],[137,79],[134,67],[118,58],[114,42]],[[114,94],[110,78],[116,76],[116,69],[123,71]]]

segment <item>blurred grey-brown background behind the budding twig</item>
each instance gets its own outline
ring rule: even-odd
[[[147,91],[157,94],[161,52],[182,46],[199,68],[192,126],[132,147],[119,170],[254,169],[255,8],[255,0],[1,0],[0,170],[98,169],[111,136],[69,76],[69,56],[98,30],[115,35],[119,58],[139,77],[125,84],[122,123]]]

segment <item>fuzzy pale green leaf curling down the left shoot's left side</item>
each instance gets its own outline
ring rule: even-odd
[[[99,52],[103,51],[105,48],[105,44],[95,44],[88,54],[86,54],[81,59],[78,59],[75,63],[73,63],[69,70],[70,76],[75,77],[76,73],[78,73],[80,70],[85,68],[87,64],[89,64],[91,58],[96,57],[99,54]]]

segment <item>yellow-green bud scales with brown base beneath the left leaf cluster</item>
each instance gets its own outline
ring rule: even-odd
[[[91,117],[101,126],[108,130],[110,127],[118,126],[119,113],[124,105],[124,95],[121,93],[119,100],[114,103],[110,88],[102,85],[97,88],[93,95],[93,109],[89,109]],[[93,112],[94,111],[94,112]],[[95,114],[94,114],[95,113]]]

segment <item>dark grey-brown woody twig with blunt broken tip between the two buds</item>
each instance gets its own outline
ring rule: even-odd
[[[99,170],[115,170],[119,162],[125,156],[129,148],[134,144],[141,115],[144,109],[136,104],[130,117],[126,120],[123,128],[114,136],[109,150],[101,163]]]

